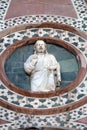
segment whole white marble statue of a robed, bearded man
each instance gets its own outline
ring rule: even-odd
[[[47,52],[46,43],[37,40],[35,52],[24,63],[24,70],[30,75],[31,91],[51,91],[60,86],[60,65],[56,58]]]

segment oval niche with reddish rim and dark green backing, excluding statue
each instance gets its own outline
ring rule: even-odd
[[[47,43],[48,53],[53,54],[61,66],[61,86],[60,89],[56,87],[55,91],[31,92],[30,90],[30,77],[24,71],[24,62],[34,53],[33,45],[38,39]],[[2,81],[13,91],[26,96],[49,97],[68,92],[79,85],[85,76],[85,59],[81,52],[60,39],[38,37],[21,40],[9,46],[1,57]]]

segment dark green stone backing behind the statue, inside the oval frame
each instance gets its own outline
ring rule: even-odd
[[[69,85],[75,80],[79,65],[76,57],[64,47],[47,43],[47,51],[53,54],[61,66],[61,87]],[[34,53],[34,46],[26,45],[16,49],[5,63],[5,72],[8,79],[17,87],[30,90],[30,76],[24,71],[24,62]],[[58,87],[56,87],[58,89]]]

